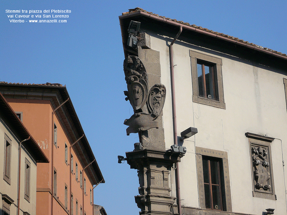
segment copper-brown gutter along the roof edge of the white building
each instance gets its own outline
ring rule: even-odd
[[[284,60],[287,60],[287,56],[283,56],[283,55],[277,54],[275,52],[271,52],[271,51],[268,51],[268,50],[265,50],[265,49],[262,49],[262,48],[258,48],[256,46],[252,46],[252,45],[246,44],[245,42],[241,42],[241,41],[238,41],[238,40],[226,38],[224,36],[221,36],[221,35],[218,35],[218,34],[214,34],[214,33],[211,33],[211,32],[206,32],[204,30],[201,30],[201,29],[198,29],[198,28],[195,28],[195,27],[192,27],[192,26],[187,26],[185,24],[181,24],[181,23],[178,23],[178,22],[175,22],[175,21],[170,21],[170,20],[167,20],[167,19],[164,19],[164,18],[161,18],[161,17],[157,17],[157,16],[151,15],[149,13],[144,13],[142,11],[138,11],[138,12],[129,13],[129,14],[125,14],[125,15],[119,16],[120,24],[121,24],[121,19],[126,19],[126,18],[130,18],[130,17],[138,16],[138,15],[142,15],[144,17],[155,19],[157,21],[164,22],[164,23],[167,23],[167,24],[170,24],[170,25],[173,25],[173,26],[178,26],[178,27],[181,26],[182,28],[187,29],[187,30],[195,31],[195,32],[198,32],[200,34],[204,34],[204,35],[207,35],[207,36],[215,37],[215,38],[218,38],[220,40],[224,40],[224,41],[227,41],[227,42],[238,44],[240,46],[244,46],[244,47],[247,47],[247,48],[259,51],[259,52],[264,52],[266,54],[270,54],[272,56],[276,56],[276,57],[282,58]],[[123,34],[123,30],[122,30],[122,38],[123,38],[123,35],[124,34]]]

